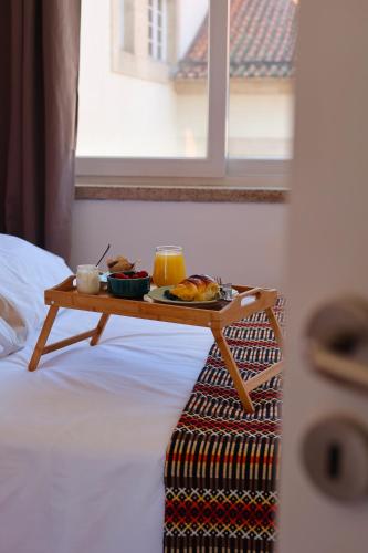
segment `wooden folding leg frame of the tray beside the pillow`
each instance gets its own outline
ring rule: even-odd
[[[29,371],[35,371],[39,366],[41,355],[45,355],[46,353],[54,352],[55,349],[61,349],[62,347],[66,347],[71,344],[75,344],[76,342],[81,342],[82,340],[87,338],[91,338],[90,345],[96,345],[101,338],[102,333],[105,330],[106,323],[109,317],[109,315],[104,313],[101,316],[97,326],[95,328],[92,328],[92,331],[82,332],[81,334],[76,334],[75,336],[71,336],[70,338],[60,340],[59,342],[54,342],[53,344],[46,346],[45,344],[48,342],[51,328],[54,324],[57,311],[59,307],[56,305],[51,305],[51,307],[49,309],[49,313],[41,328],[41,333],[35,344],[33,355],[28,365]]]

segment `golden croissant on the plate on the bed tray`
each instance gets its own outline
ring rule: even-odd
[[[186,302],[202,302],[215,300],[219,295],[219,284],[207,274],[193,274],[179,282],[170,290],[170,295]]]

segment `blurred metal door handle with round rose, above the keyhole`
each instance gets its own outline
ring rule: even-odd
[[[368,302],[343,298],[309,320],[307,358],[313,369],[368,390]]]

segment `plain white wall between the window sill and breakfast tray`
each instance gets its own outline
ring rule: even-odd
[[[238,284],[282,286],[282,204],[193,204],[76,200],[72,268],[112,253],[143,260],[151,270],[155,246],[185,248],[188,273],[220,275]]]

